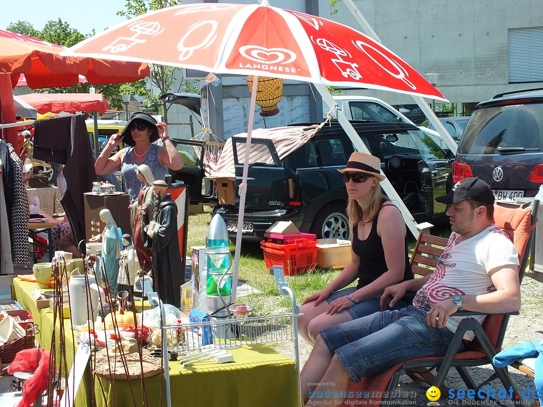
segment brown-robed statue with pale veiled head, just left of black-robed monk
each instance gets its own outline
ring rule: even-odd
[[[130,216],[137,259],[141,270],[147,273],[153,268],[153,261],[151,260],[151,251],[148,249],[151,246],[150,239],[146,233],[143,233],[143,230],[149,224],[149,220],[153,219],[153,188],[151,184],[155,181],[155,177],[145,164],[136,168],[136,174],[144,186],[140,190],[137,201],[132,203]]]

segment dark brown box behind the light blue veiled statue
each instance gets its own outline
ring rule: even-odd
[[[115,223],[123,233],[132,233],[130,225],[130,198],[127,194],[97,195],[86,193],[85,200],[85,229],[87,240],[98,236],[104,230],[104,222],[100,219],[100,211],[109,209]]]

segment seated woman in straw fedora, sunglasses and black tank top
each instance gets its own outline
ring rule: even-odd
[[[304,301],[300,334],[314,344],[319,330],[381,311],[380,297],[389,285],[413,279],[407,253],[406,226],[400,210],[383,194],[381,160],[355,151],[344,169],[349,195],[351,261],[325,289]],[[356,287],[345,288],[358,278]],[[406,307],[399,301],[396,308]]]

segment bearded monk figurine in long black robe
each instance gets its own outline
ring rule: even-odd
[[[154,220],[146,233],[153,239],[153,279],[162,302],[181,306],[181,285],[185,273],[180,269],[181,255],[177,236],[177,206],[171,194],[166,193],[165,181],[153,182],[155,196]]]

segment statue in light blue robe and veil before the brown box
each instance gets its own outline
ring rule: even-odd
[[[100,219],[105,222],[102,232],[102,259],[105,267],[104,283],[109,283],[112,294],[117,293],[117,277],[119,274],[119,260],[121,259],[121,241],[115,220],[109,209],[100,211]],[[107,279],[106,279],[107,277]]]

